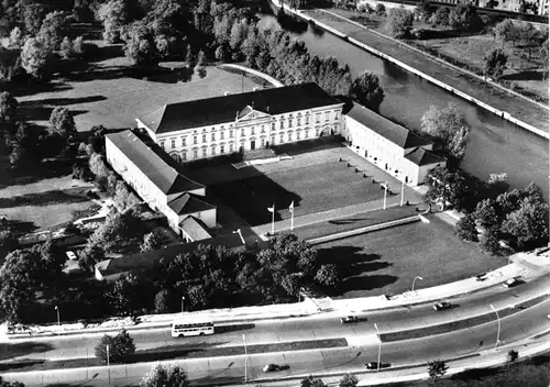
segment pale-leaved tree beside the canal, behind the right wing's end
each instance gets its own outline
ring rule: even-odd
[[[420,130],[438,139],[446,155],[454,163],[464,156],[470,126],[455,104],[449,103],[447,109],[430,106],[420,120]]]

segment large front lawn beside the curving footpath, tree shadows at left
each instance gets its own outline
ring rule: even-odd
[[[460,241],[452,228],[430,215],[430,223],[416,222],[364,235],[319,244],[327,262],[349,265],[343,298],[400,294],[417,287],[432,287],[494,269],[505,263],[480,252],[477,244]]]

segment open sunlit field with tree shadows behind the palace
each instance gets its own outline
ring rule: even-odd
[[[122,53],[120,52],[122,55]],[[250,78],[207,66],[204,79],[195,74],[189,81],[167,76],[143,77],[129,71],[130,62],[117,56],[95,64],[91,71],[54,79],[36,90],[22,90],[20,112],[26,121],[46,125],[54,107],[63,106],[75,114],[79,132],[92,125],[108,129],[135,126],[135,118],[148,114],[166,103],[251,91],[257,87]]]

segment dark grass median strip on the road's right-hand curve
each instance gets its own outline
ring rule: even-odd
[[[518,303],[518,305],[516,305],[516,308],[514,308],[514,309],[512,309],[512,308],[501,309],[501,310],[498,310],[498,316],[501,317],[501,319],[503,319],[507,316],[512,316],[514,313],[517,313],[522,309],[528,309],[528,308],[531,308],[538,303],[541,303],[549,298],[550,298],[550,296],[543,295],[543,296],[534,298],[531,300]],[[488,312],[486,314],[476,316],[476,317],[473,317],[470,319],[453,321],[453,322],[439,324],[439,325],[425,327],[425,328],[413,329],[413,330],[400,331],[400,332],[383,333],[383,334],[381,334],[381,340],[383,342],[392,342],[392,341],[419,339],[419,338],[425,338],[425,336],[431,336],[435,334],[449,333],[449,332],[458,331],[461,329],[473,328],[473,327],[481,325],[481,324],[492,322],[495,320],[496,320],[495,313]]]

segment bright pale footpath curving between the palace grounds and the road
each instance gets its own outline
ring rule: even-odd
[[[487,290],[502,286],[510,278],[529,278],[549,272],[550,257],[520,253],[512,257],[514,263],[499,269],[486,273],[484,280],[476,277],[466,278],[451,284],[440,285],[400,295],[363,297],[355,299],[332,300],[330,298],[305,297],[302,302],[279,303],[262,307],[243,307],[204,310],[196,312],[172,314],[146,314],[132,320],[130,318],[113,318],[103,323],[88,324],[73,323],[61,325],[19,325],[10,333],[3,324],[0,332],[0,342],[14,340],[35,340],[44,336],[81,335],[98,333],[114,333],[124,328],[129,331],[167,329],[172,322],[182,317],[211,319],[215,323],[243,323],[270,319],[287,319],[319,314],[331,318],[343,314],[399,308],[403,306],[433,302],[441,299],[453,299],[469,294]]]

